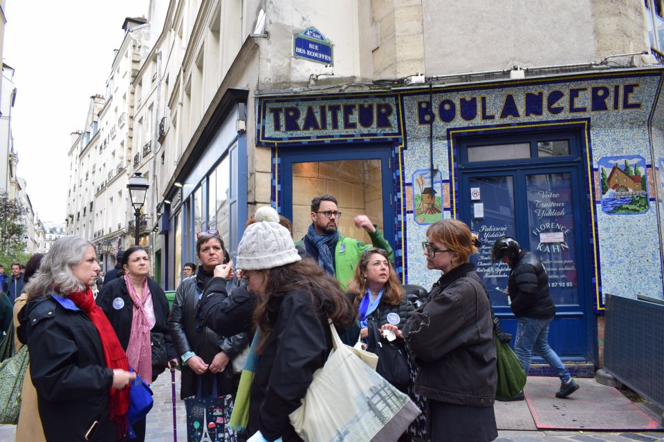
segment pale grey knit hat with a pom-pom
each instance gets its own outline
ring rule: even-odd
[[[295,249],[291,232],[279,224],[275,209],[261,207],[254,219],[256,222],[247,227],[237,247],[238,269],[272,269],[302,260]]]

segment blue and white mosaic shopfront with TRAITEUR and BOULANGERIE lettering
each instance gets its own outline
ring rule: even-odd
[[[430,287],[439,274],[425,267],[421,241],[426,223],[414,218],[416,171],[433,156],[441,183],[441,218],[459,217],[457,137],[474,133],[572,129],[580,134],[582,188],[591,311],[604,309],[603,294],[663,298],[661,204],[664,167],[662,70],[615,70],[493,83],[434,86],[374,94],[261,97],[257,144],[273,148],[273,203],[279,208],[279,151],[319,144],[381,142],[394,147],[394,216],[398,267],[407,283]],[[433,125],[430,124],[434,121]],[[432,135],[432,138],[430,138]],[[351,147],[352,147],[351,146]],[[433,153],[433,155],[431,155]],[[649,209],[630,216],[602,211],[598,161],[645,159]],[[386,189],[391,191],[391,189]],[[578,245],[578,244],[577,244]]]

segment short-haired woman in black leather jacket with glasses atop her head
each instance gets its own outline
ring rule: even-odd
[[[210,397],[215,386],[219,396],[233,394],[230,361],[248,344],[247,334],[224,337],[196,318],[196,306],[214,268],[230,260],[218,231],[198,233],[196,256],[201,265],[193,278],[185,278],[178,286],[168,318],[173,344],[183,363],[180,390],[183,399],[198,395],[199,387],[199,397]]]

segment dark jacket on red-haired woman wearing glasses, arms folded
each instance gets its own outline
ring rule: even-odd
[[[427,302],[403,327],[420,366],[417,394],[436,401],[492,406],[497,372],[493,323],[475,267],[465,262],[441,276]]]

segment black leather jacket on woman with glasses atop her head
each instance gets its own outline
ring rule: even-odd
[[[200,270],[195,276],[183,280],[176,290],[175,300],[168,318],[168,328],[178,356],[181,357],[186,352],[194,352],[207,364],[212,363],[212,359],[220,351],[232,359],[249,344],[247,333],[222,336],[205,327],[202,320],[196,320],[199,295],[203,293],[209,280]],[[216,376],[220,385],[228,385],[226,376],[230,372],[232,369],[229,367],[228,370],[224,370],[219,376]],[[203,376],[208,376],[208,374]],[[184,363],[181,398],[194,396],[198,391],[198,382],[196,374]],[[225,390],[225,387],[220,388]]]

